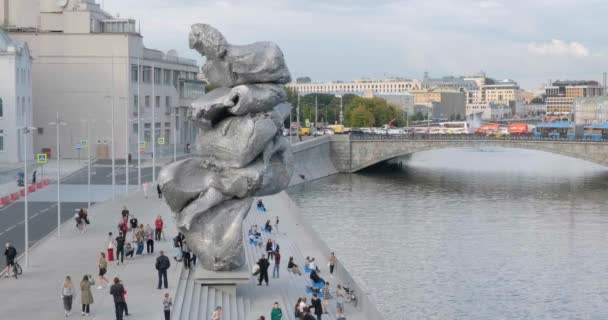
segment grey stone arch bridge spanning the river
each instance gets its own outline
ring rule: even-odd
[[[420,151],[445,148],[502,147],[560,154],[608,166],[608,140],[567,140],[533,136],[333,135],[331,161],[339,172],[356,172],[376,163]]]

